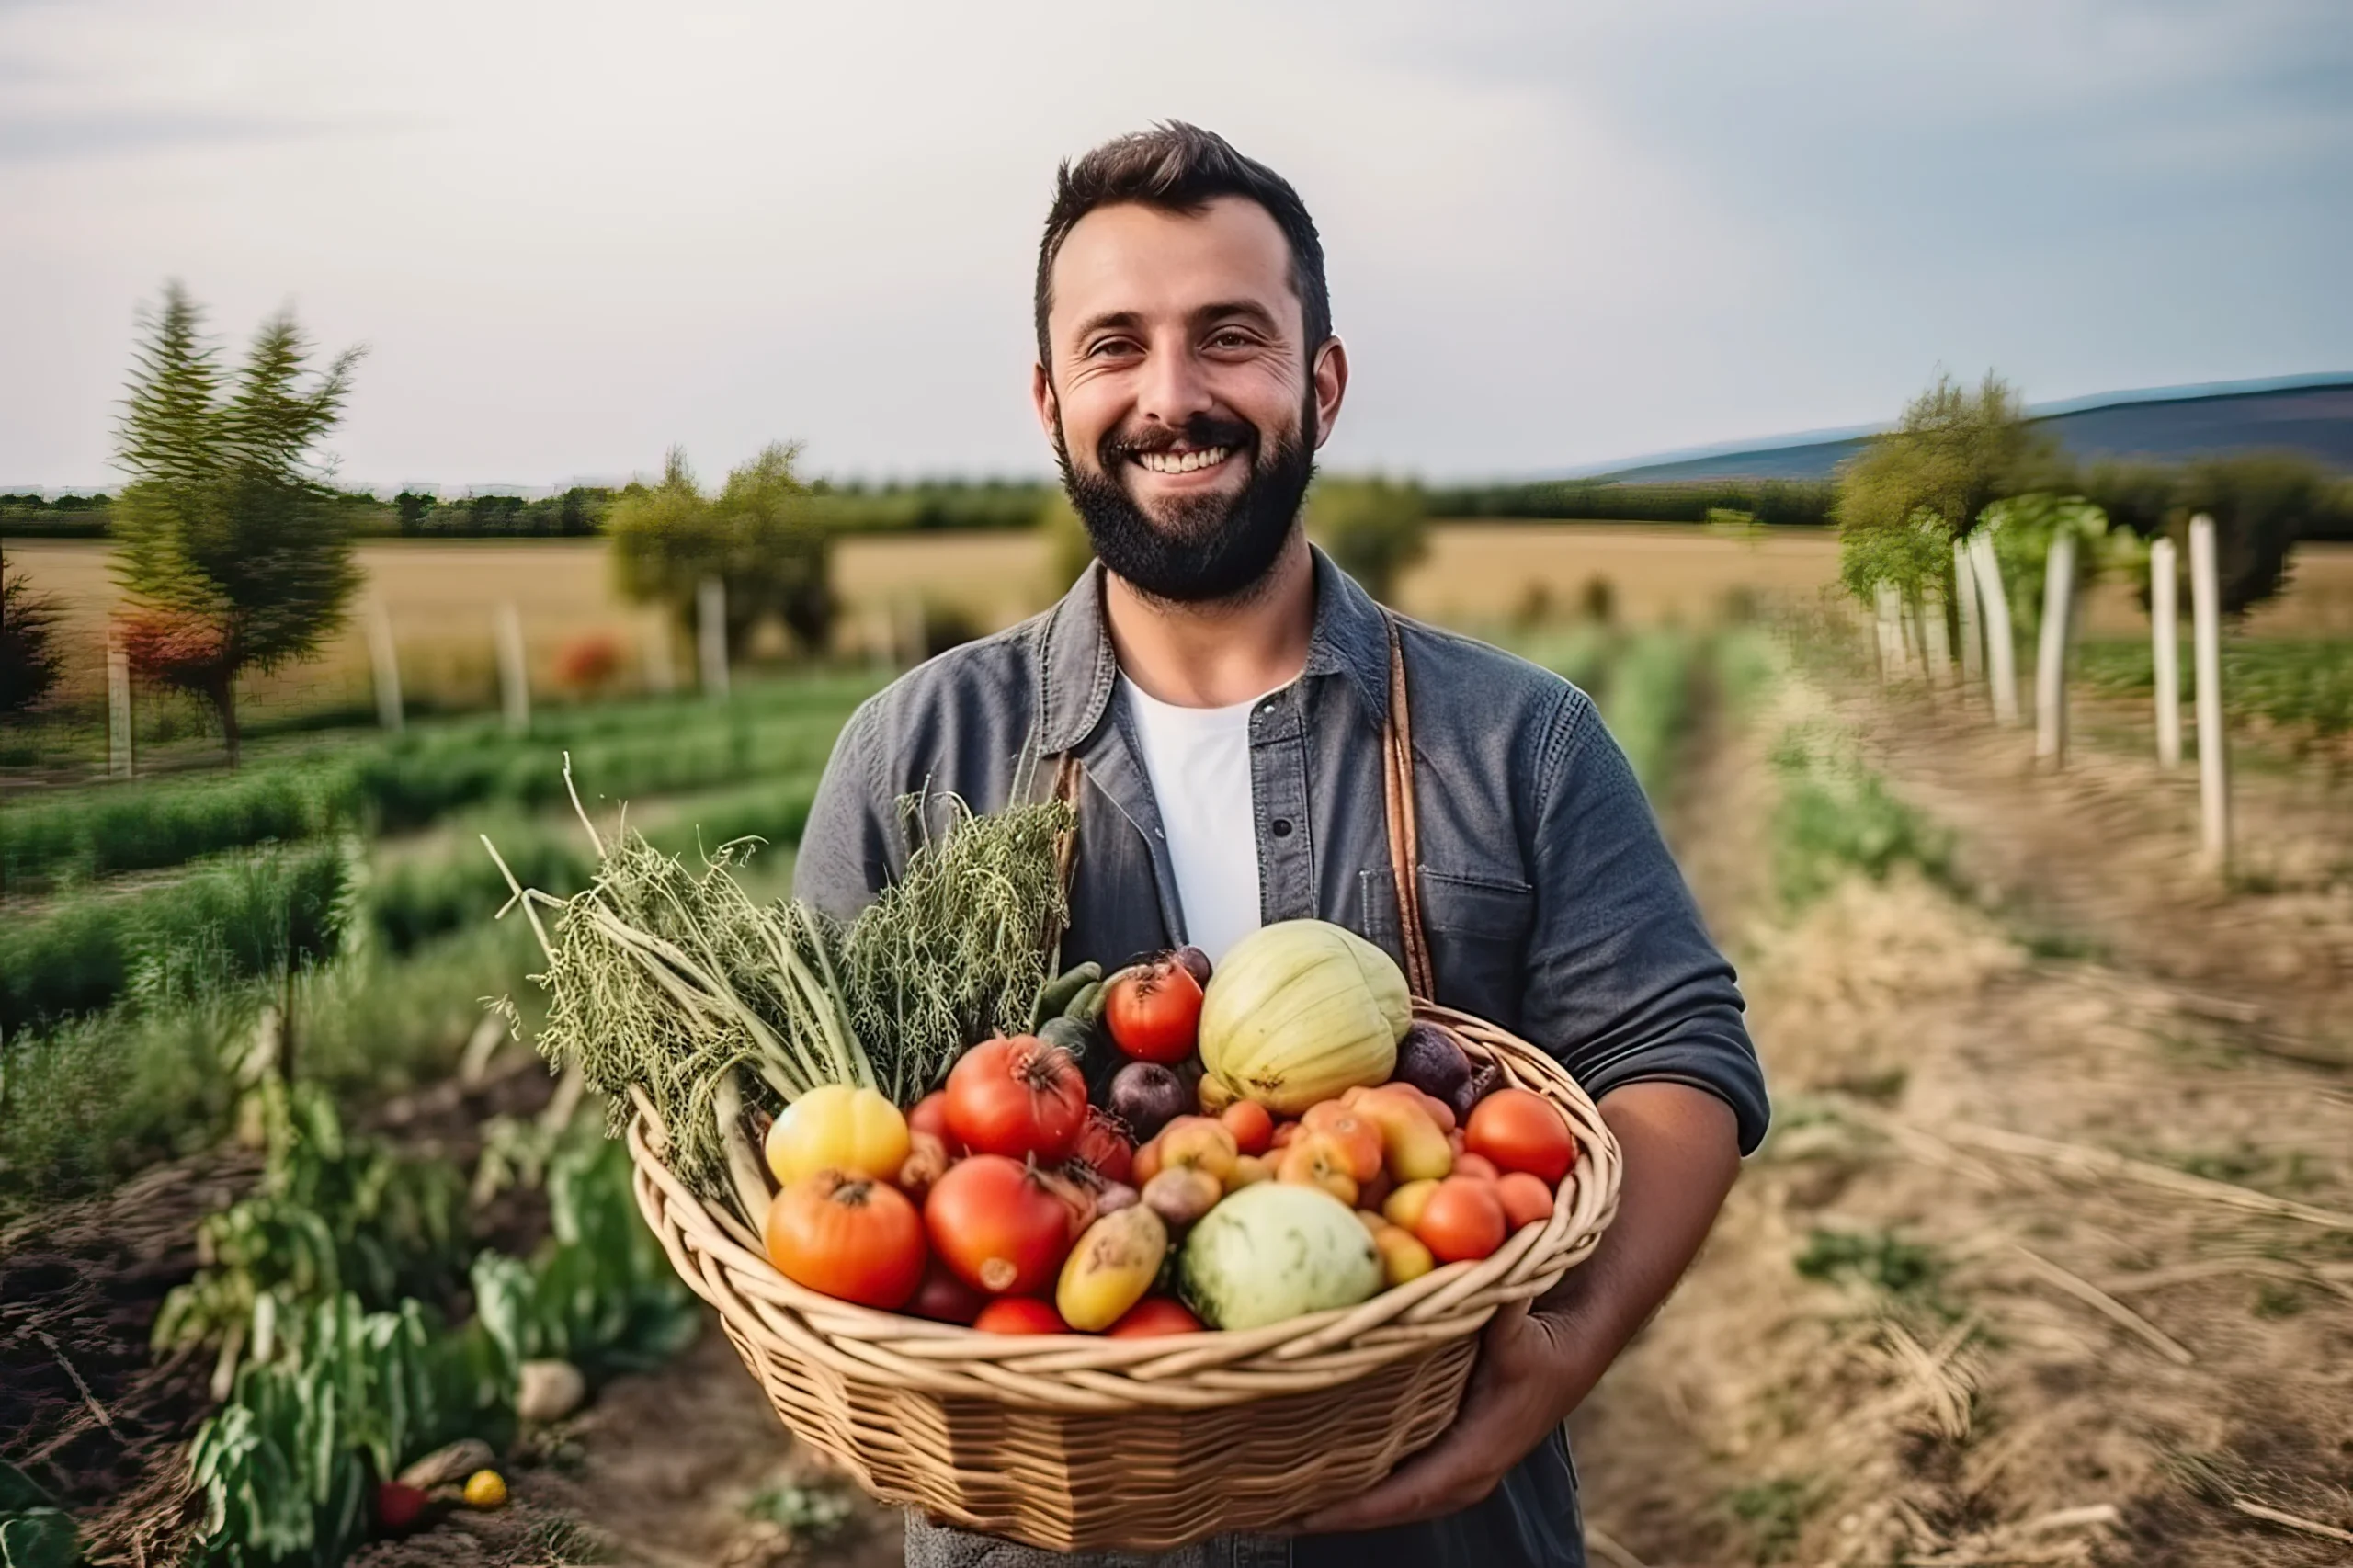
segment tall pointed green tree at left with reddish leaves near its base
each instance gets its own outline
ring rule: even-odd
[[[233,379],[176,283],[146,315],[115,464],[115,582],[125,645],[153,680],[193,692],[238,765],[238,678],[308,657],[344,622],[360,567],[318,443],[336,426],[360,348],[311,374],[282,311]]]

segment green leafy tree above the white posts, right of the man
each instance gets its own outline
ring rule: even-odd
[[[2019,393],[1991,370],[1969,391],[1948,374],[1904,407],[1838,476],[1840,582],[1868,600],[1894,582],[1918,596],[1951,574],[1951,539],[2007,494],[2045,487],[2057,447],[2026,424]],[[1929,551],[1941,530],[1944,549]]]

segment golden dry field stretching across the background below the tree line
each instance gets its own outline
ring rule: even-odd
[[[71,685],[92,692],[104,671],[104,619],[118,593],[106,577],[106,546],[19,539],[7,558],[68,610],[75,643]],[[534,542],[369,542],[362,603],[381,603],[400,640],[402,685],[454,704],[489,704],[492,614],[513,603],[522,617],[534,683],[546,680],[558,650],[586,633],[612,633],[642,673],[661,619],[621,603],[602,546],[593,539]],[[1675,525],[1609,523],[1442,523],[1428,558],[1400,586],[1400,605],[1452,624],[1478,624],[1548,607],[1577,612],[1591,584],[1605,582],[1614,614],[1633,626],[1708,624],[1732,596],[1814,598],[1838,577],[1838,539],[1788,532],[1739,542]],[[922,603],[953,605],[979,626],[1005,626],[1042,607],[1054,586],[1047,551],[1033,534],[861,537],[840,546],[835,582],[845,600],[842,645],[885,652],[894,626]],[[2089,629],[2129,633],[2144,626],[2139,605],[2115,584],[2092,600]],[[2294,579],[2266,605],[2252,631],[2273,636],[2353,636],[2353,546],[2313,544],[2297,553]],[[685,671],[692,650],[675,647]],[[348,704],[367,699],[367,645],[355,619],[329,650],[294,671],[254,683],[268,706]]]

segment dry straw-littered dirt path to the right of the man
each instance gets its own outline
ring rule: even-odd
[[[1781,725],[1958,836],[1802,916]],[[1805,687],[1694,760],[1680,852],[1777,1095],[1708,1253],[1579,1417],[1598,1561],[2341,1563],[2353,1540],[2344,805],[2247,779],[2257,890],[2174,786]]]

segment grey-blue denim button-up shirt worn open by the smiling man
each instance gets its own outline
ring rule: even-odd
[[[1708,939],[1659,824],[1593,702],[1551,671],[1402,622],[1412,699],[1417,866],[1433,1001],[1551,1050],[1588,1095],[1675,1081],[1732,1107],[1741,1151],[1765,1135],[1765,1078],[1732,965]],[[1315,551],[1306,671],[1249,718],[1259,911],[1337,921],[1402,963],[1381,791],[1388,629]],[[1082,765],[1071,930],[1061,961],[1184,942],[1167,838],[1118,697],[1101,567],[1052,610],[908,671],[835,742],[793,869],[798,897],[849,918],[906,864],[896,800],[953,791],[974,810],[1042,793]],[[1038,758],[1047,758],[1040,763]],[[1238,826],[1240,831],[1240,826]],[[1068,1559],[908,1516],[908,1563],[1042,1568]],[[1224,1537],[1167,1563],[1313,1568],[1584,1563],[1574,1471],[1555,1431],[1485,1502],[1351,1537]]]

